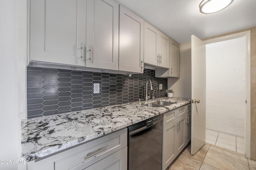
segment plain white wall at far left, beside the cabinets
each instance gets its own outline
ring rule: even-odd
[[[26,12],[26,0],[0,0],[0,160],[11,162],[21,160],[20,119],[26,117]],[[0,164],[0,170],[25,168]]]

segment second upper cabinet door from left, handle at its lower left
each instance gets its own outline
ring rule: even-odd
[[[119,4],[87,0],[86,67],[118,70]]]

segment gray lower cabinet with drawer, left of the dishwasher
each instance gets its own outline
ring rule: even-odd
[[[28,170],[126,170],[127,128],[110,133],[42,160]]]

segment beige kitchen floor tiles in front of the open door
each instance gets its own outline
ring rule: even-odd
[[[256,161],[210,143],[192,156],[189,143],[166,170],[256,170]]]

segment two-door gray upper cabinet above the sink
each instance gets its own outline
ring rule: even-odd
[[[144,62],[169,68],[170,38],[144,21]]]

